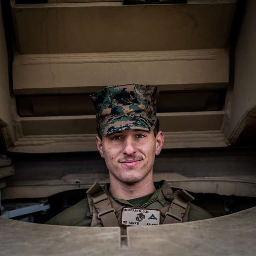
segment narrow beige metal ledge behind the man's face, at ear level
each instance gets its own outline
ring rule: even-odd
[[[228,146],[218,130],[206,132],[165,132],[163,148],[217,148]],[[55,153],[97,151],[96,134],[23,136],[10,152]]]

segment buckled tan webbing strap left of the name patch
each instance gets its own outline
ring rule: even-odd
[[[86,193],[92,198],[92,202],[98,212],[98,218],[101,219],[103,226],[119,227],[115,209],[112,208],[111,202],[102,187],[95,182]]]

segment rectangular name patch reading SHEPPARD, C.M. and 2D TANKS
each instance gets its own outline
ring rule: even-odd
[[[160,224],[160,211],[143,208],[122,209],[121,223],[124,226],[154,226]]]

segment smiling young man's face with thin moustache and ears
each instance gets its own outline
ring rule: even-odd
[[[153,170],[155,155],[160,154],[164,135],[143,130],[124,130],[97,137],[97,148],[105,159],[110,176],[124,183],[143,180]]]

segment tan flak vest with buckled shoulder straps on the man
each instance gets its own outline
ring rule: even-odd
[[[185,190],[173,192],[172,188],[165,182],[161,192],[164,198],[170,202],[167,206],[156,208],[152,200],[146,207],[160,210],[160,224],[172,224],[188,221],[189,202],[194,197]],[[106,191],[98,184],[94,183],[87,192],[88,202],[90,206],[90,214],[92,215],[91,226],[121,226],[121,212],[123,205],[116,202]],[[136,207],[137,208],[137,207]]]

